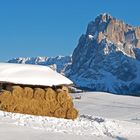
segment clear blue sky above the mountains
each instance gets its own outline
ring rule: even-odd
[[[100,13],[140,25],[139,0],[1,0],[0,61],[72,54]]]

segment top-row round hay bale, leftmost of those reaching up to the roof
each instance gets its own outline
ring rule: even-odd
[[[20,86],[12,86],[12,95],[18,98],[21,98],[24,93],[24,90]]]

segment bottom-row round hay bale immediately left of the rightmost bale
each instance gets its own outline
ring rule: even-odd
[[[54,112],[54,117],[57,118],[65,118],[66,117],[66,110],[62,107],[58,108],[55,112]]]

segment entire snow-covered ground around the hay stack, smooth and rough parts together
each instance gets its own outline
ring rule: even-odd
[[[140,98],[107,93],[82,93],[74,99],[75,121],[0,111],[0,138],[16,139],[140,139]],[[100,116],[100,117],[99,117]]]

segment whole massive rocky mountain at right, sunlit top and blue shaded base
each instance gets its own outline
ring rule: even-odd
[[[67,76],[83,88],[140,95],[140,27],[99,15],[80,37]]]

